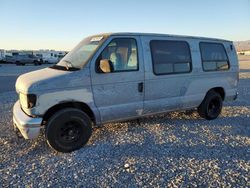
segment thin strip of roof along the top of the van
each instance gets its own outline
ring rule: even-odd
[[[196,37],[196,36],[186,36],[186,35],[172,35],[172,34],[160,34],[160,33],[133,33],[133,32],[117,32],[117,33],[101,33],[98,35],[105,36],[159,36],[159,37],[176,37],[176,38],[188,38],[188,39],[200,39],[200,40],[212,40],[221,42],[232,42],[230,40],[210,38],[210,37]]]

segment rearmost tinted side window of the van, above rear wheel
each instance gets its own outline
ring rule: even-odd
[[[229,61],[224,46],[220,43],[200,43],[202,67],[204,71],[229,69]]]

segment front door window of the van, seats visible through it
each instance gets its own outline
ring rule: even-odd
[[[102,59],[108,59],[112,72],[135,71],[138,70],[137,57],[135,39],[113,39],[98,57],[96,64]]]

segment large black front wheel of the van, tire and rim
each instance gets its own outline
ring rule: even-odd
[[[47,143],[58,152],[71,152],[83,147],[92,134],[91,120],[83,111],[67,108],[55,113],[45,130]]]

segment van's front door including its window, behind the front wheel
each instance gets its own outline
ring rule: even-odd
[[[91,63],[94,101],[102,123],[143,113],[144,66],[139,40],[138,36],[110,37]],[[110,72],[102,72],[101,60],[109,61]]]

